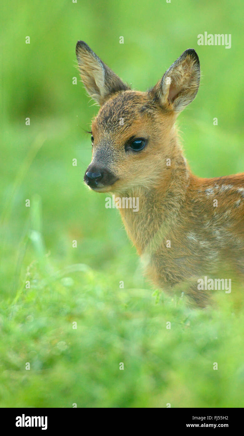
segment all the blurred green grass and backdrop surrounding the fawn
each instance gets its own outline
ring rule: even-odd
[[[75,68],[82,39],[146,90],[195,48],[201,86],[178,118],[185,155],[198,176],[241,172],[242,8],[227,0],[1,4],[1,407],[244,405],[241,312],[231,304],[190,312],[154,291],[118,212],[105,208],[107,194],[84,186],[84,129],[98,108]],[[204,31],[231,34],[231,49],[198,46]]]

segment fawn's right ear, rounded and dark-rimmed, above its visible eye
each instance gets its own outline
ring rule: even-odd
[[[152,92],[168,109],[180,112],[196,97],[200,83],[200,62],[188,48],[164,73]]]

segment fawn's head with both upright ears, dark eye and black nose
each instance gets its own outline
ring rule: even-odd
[[[197,53],[184,51],[147,92],[132,91],[84,41],[77,42],[76,55],[84,86],[100,105],[91,126],[85,183],[98,192],[156,185],[173,153],[177,114],[197,94]]]

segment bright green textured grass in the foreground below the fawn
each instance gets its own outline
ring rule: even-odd
[[[40,258],[41,236],[31,239]],[[42,262],[27,268],[30,289],[1,304],[1,407],[243,406],[243,313],[223,301],[190,311],[119,288],[118,272]]]

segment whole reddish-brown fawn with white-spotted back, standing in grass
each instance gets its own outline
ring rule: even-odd
[[[199,178],[183,156],[175,121],[197,94],[197,53],[184,51],[147,92],[131,90],[85,42],[77,42],[76,55],[84,86],[100,105],[85,183],[140,199],[137,213],[120,214],[147,276],[206,306],[212,288],[199,288],[197,279],[216,276],[221,264],[244,275],[244,173]]]

